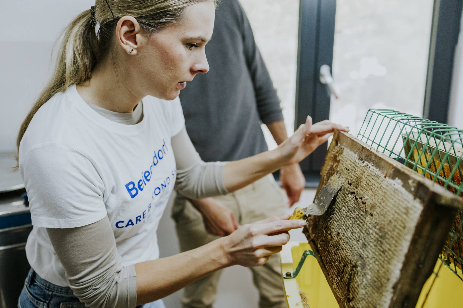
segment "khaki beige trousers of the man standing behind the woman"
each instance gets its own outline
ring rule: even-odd
[[[240,225],[284,215],[288,208],[286,193],[276,184],[271,174],[238,191],[215,198],[232,209]],[[182,252],[218,238],[206,232],[200,212],[178,194],[172,207],[172,218],[176,223]],[[250,270],[259,291],[259,307],[286,308],[279,254],[270,257],[265,265],[252,267]],[[220,273],[221,271],[216,271],[186,286],[181,296],[183,307],[212,308]]]

